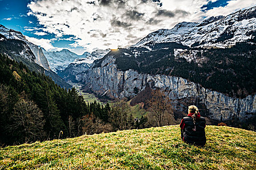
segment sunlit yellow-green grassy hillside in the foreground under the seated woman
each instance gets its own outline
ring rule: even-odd
[[[178,126],[118,131],[0,149],[0,169],[253,170],[256,132],[207,126],[205,147],[183,143]],[[58,158],[59,155],[59,158]]]

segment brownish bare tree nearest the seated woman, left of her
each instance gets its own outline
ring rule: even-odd
[[[154,119],[157,126],[171,125],[174,123],[174,114],[171,100],[161,90],[153,90],[152,98],[147,102],[148,118]],[[154,121],[151,121],[154,122]]]

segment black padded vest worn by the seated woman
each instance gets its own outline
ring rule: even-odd
[[[205,119],[200,117],[196,119],[196,131],[193,131],[195,128],[193,119],[191,117],[183,118],[185,126],[184,129],[181,129],[181,138],[186,143],[195,144],[198,146],[204,146],[206,143],[205,137]]]

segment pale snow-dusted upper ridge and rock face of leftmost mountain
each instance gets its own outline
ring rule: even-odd
[[[2,34],[7,39],[17,39],[25,42],[36,57],[36,59],[33,61],[44,69],[50,70],[48,61],[45,58],[42,49],[39,46],[29,42],[22,33],[0,25],[0,34]]]

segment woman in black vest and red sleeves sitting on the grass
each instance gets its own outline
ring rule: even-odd
[[[188,116],[184,117],[180,122],[181,139],[186,143],[204,146],[205,137],[205,119],[200,117],[200,113],[196,106],[188,107]]]

